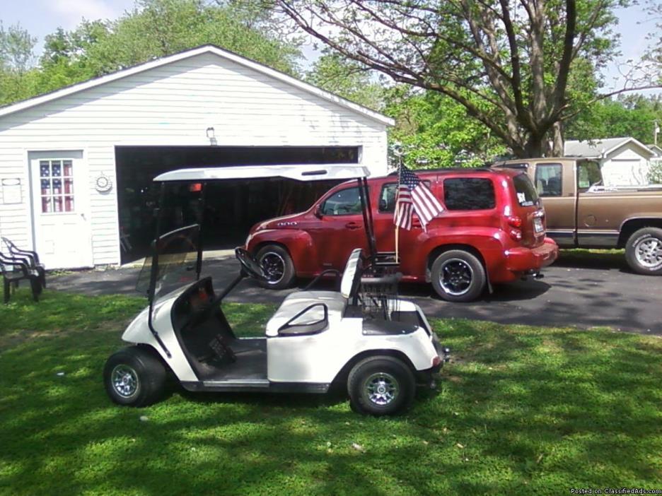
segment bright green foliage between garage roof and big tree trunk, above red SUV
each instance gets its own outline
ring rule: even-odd
[[[506,153],[487,126],[451,98],[401,85],[385,100],[385,112],[396,121],[389,139],[402,143],[408,167],[475,167]]]

